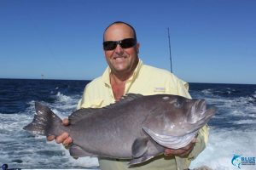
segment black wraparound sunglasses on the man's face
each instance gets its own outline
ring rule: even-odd
[[[103,42],[103,48],[106,51],[113,50],[118,44],[121,48],[131,48],[137,44],[137,41],[135,38],[125,38],[119,41],[107,41]]]

